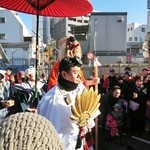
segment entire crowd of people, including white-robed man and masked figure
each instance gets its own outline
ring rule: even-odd
[[[109,76],[104,80],[93,77],[86,80],[82,71],[82,51],[75,37],[65,37],[60,40],[58,61],[46,77],[44,72],[35,84],[34,67],[25,71],[13,73],[7,68],[0,73],[0,114],[1,120],[9,115],[20,112],[34,112],[49,120],[55,127],[65,150],[93,149],[93,143],[77,141],[79,126],[70,119],[71,107],[75,104],[76,96],[85,88],[99,84],[101,96],[100,108],[94,117],[90,117],[84,130],[84,138],[88,131],[94,128],[94,119],[99,116],[99,123],[105,132],[105,126],[111,126],[110,118],[120,124],[120,119],[128,114],[127,134],[150,134],[150,72],[144,68],[140,75],[133,76],[130,67],[126,67],[122,76],[115,74],[110,68]],[[35,99],[35,91],[38,99]],[[37,98],[37,97],[36,97]],[[12,106],[8,100],[14,100]],[[124,113],[125,112],[125,113]],[[4,115],[5,114],[5,115]],[[111,128],[111,134],[117,135],[116,127]],[[115,132],[114,132],[115,131]],[[86,139],[86,138],[85,138]],[[79,140],[79,139],[78,139]],[[85,145],[88,148],[85,148]]]

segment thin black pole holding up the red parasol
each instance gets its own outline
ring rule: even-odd
[[[37,91],[37,77],[38,77],[38,49],[39,49],[39,11],[37,11],[36,15],[36,51],[35,51],[35,100],[38,98]]]

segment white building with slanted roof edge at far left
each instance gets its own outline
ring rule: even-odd
[[[15,11],[0,8],[0,44],[12,66],[28,64],[32,35]]]

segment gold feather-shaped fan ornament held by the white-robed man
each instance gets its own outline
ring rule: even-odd
[[[71,106],[72,115],[70,118],[77,121],[79,127],[85,127],[88,120],[96,113],[100,106],[101,95],[98,90],[84,89],[82,94],[78,94],[75,99],[75,105]]]

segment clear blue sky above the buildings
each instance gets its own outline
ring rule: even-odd
[[[93,10],[101,12],[127,12],[127,23],[147,24],[147,0],[90,0]],[[32,28],[32,15],[19,13],[29,30]]]

